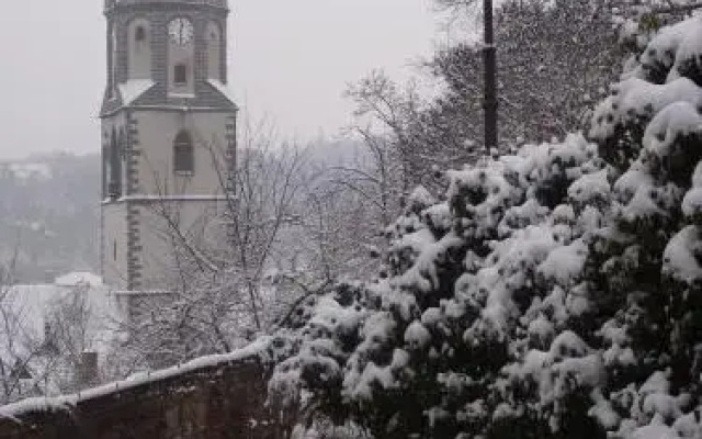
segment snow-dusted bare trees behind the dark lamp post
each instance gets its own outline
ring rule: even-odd
[[[630,38],[621,38],[621,30],[636,23],[644,31],[657,27],[698,3],[496,1],[500,149],[579,130],[635,48]],[[451,20],[462,26],[479,29],[482,1],[435,0],[434,4],[449,10]],[[377,136],[390,144],[403,192],[430,184],[433,168],[461,167],[483,155],[483,52],[474,38],[450,41],[440,48],[424,64],[429,75],[420,76],[432,89],[439,86],[432,97],[422,99],[416,83],[403,89],[377,71],[348,90],[355,115],[362,117],[354,131],[370,147]]]

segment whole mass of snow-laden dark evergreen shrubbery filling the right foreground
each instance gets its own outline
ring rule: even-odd
[[[387,275],[301,311],[271,397],[376,438],[699,438],[700,29],[653,37],[595,143],[415,191]]]

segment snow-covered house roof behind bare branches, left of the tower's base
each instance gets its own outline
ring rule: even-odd
[[[0,403],[97,384],[122,313],[101,278],[88,272],[1,289]]]

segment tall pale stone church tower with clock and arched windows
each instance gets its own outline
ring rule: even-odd
[[[228,13],[227,0],[105,0],[101,258],[116,290],[178,289],[186,254],[224,241]]]

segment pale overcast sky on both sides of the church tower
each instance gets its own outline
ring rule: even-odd
[[[349,123],[346,85],[371,69],[411,74],[440,25],[431,0],[229,0],[230,87],[285,137]],[[32,0],[0,14],[0,159],[98,151],[104,88],[102,0]]]

